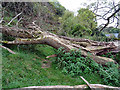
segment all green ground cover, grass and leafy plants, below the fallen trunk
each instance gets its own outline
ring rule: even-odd
[[[82,57],[81,52],[71,50],[65,53],[47,45],[22,45],[11,49],[16,54],[2,50],[2,87],[3,89],[28,86],[82,85],[83,76],[91,84],[118,86],[119,72],[115,64],[99,66],[89,57]],[[46,56],[57,54],[50,68],[41,68],[41,61]],[[104,82],[103,82],[104,81]]]

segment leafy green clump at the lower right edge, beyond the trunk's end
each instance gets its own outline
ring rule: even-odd
[[[100,76],[103,78],[105,84],[119,86],[120,85],[120,70],[118,65],[114,63],[107,63],[106,67],[101,67],[99,70]]]

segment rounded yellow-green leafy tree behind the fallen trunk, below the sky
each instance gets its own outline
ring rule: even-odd
[[[97,26],[95,18],[94,13],[89,9],[80,9],[77,16],[66,10],[60,18],[62,28],[60,34],[78,37],[91,35],[92,30]]]

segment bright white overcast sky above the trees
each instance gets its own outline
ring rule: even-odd
[[[85,6],[83,5],[83,3],[87,3],[90,4],[92,2],[95,2],[97,0],[58,0],[59,3],[64,6],[67,10],[74,12],[74,15],[77,15],[77,11],[80,8],[85,8]],[[107,1],[112,1],[112,0],[107,0]],[[118,3],[120,0],[113,0],[115,1],[115,3]],[[101,23],[105,23],[105,21],[101,20],[98,21],[98,25],[100,25]],[[114,26],[114,24],[111,24],[110,26]]]

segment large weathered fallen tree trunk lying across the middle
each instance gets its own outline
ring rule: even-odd
[[[89,56],[97,63],[105,64],[106,62],[115,62],[110,58],[98,56],[99,53],[106,53],[116,49],[117,47],[114,45],[114,43],[58,36],[42,30],[35,23],[29,25],[27,30],[16,27],[2,26],[0,32],[16,37],[14,41],[0,41],[0,43],[14,45],[46,44],[56,49],[64,47],[66,52],[71,49],[81,49],[81,54],[83,56]],[[88,54],[88,52],[90,54]]]

